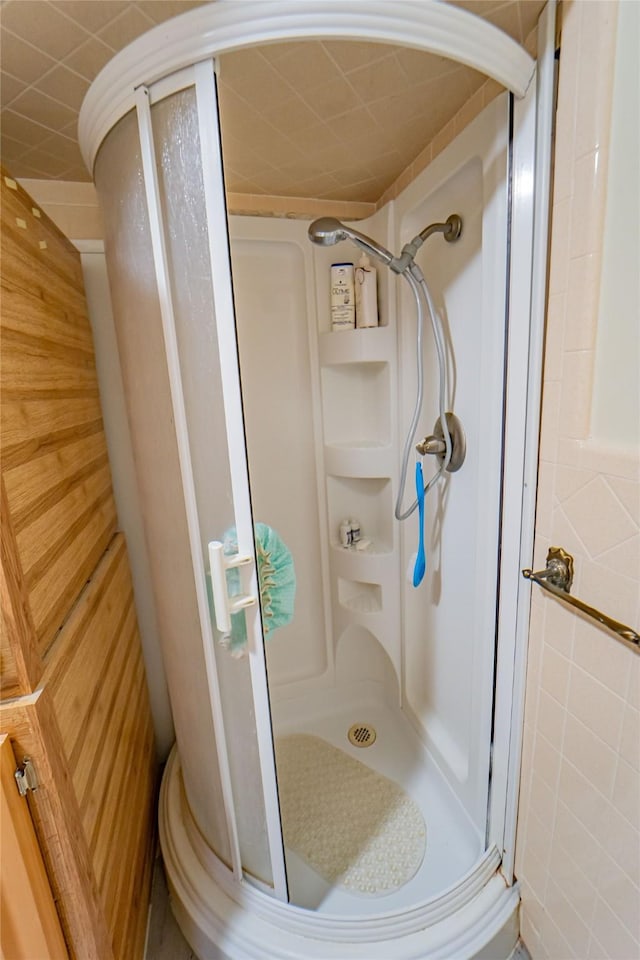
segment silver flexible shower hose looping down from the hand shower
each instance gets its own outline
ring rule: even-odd
[[[445,343],[444,343],[444,331],[442,329],[442,321],[440,315],[435,308],[431,292],[427,286],[427,282],[424,278],[422,270],[416,263],[412,263],[407,269],[402,273],[402,276],[405,278],[407,283],[411,288],[411,292],[416,301],[416,316],[417,316],[417,333],[416,333],[416,357],[417,357],[417,392],[416,392],[416,404],[413,411],[413,417],[411,418],[411,423],[409,425],[409,430],[407,432],[407,438],[404,443],[404,449],[402,451],[402,465],[400,468],[400,486],[398,488],[398,497],[396,500],[395,507],[395,517],[396,520],[406,520],[418,507],[419,501],[424,499],[424,496],[431,490],[432,487],[438,482],[440,477],[443,475],[444,471],[447,469],[449,461],[451,460],[451,434],[449,433],[449,427],[447,424],[446,418],[446,401],[447,401],[447,361],[445,354]],[[440,417],[440,425],[442,427],[443,439],[445,443],[445,452],[444,458],[440,463],[438,471],[434,474],[433,477],[428,481],[424,486],[423,496],[417,496],[413,501],[411,506],[406,510],[402,510],[402,501],[404,499],[404,491],[407,483],[407,470],[409,468],[409,456],[411,454],[411,446],[413,444],[416,430],[418,428],[418,420],[420,419],[420,413],[422,410],[422,401],[424,396],[424,362],[422,358],[422,343],[424,339],[424,305],[426,304],[429,311],[429,317],[431,319],[431,328],[433,330],[433,339],[436,347],[436,356],[438,359],[438,375],[439,375],[439,389],[438,389],[438,412]],[[420,463],[420,461],[418,461]],[[421,471],[420,471],[421,473]],[[422,514],[422,511],[421,511]],[[422,522],[421,516],[421,522]],[[421,529],[422,534],[422,529]],[[417,585],[417,584],[416,584]]]

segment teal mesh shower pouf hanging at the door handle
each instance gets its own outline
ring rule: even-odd
[[[296,574],[291,551],[278,533],[266,523],[256,523],[256,556],[258,560],[258,583],[265,640],[274,630],[291,623],[296,597]],[[226,556],[238,552],[238,537],[235,527],[224,536]],[[240,593],[240,571],[227,570],[229,596]],[[247,627],[244,611],[231,617],[231,634],[225,639],[232,654],[240,656],[247,646]]]

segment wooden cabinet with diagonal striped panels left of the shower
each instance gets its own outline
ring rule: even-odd
[[[5,171],[0,190],[0,729],[37,770],[69,955],[139,960],[155,748],[80,259]]]

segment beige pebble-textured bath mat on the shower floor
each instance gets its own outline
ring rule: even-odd
[[[404,790],[309,734],[276,740],[284,841],[329,883],[382,896],[422,863],[427,828]]]

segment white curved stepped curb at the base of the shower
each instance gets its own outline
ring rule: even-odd
[[[200,960],[507,960],[513,953],[520,897],[497,873],[495,850],[456,887],[413,910],[321,917],[225,882],[228,870],[211,851],[206,869],[206,845],[188,817],[174,749],[160,792],[160,844],[173,912]]]

